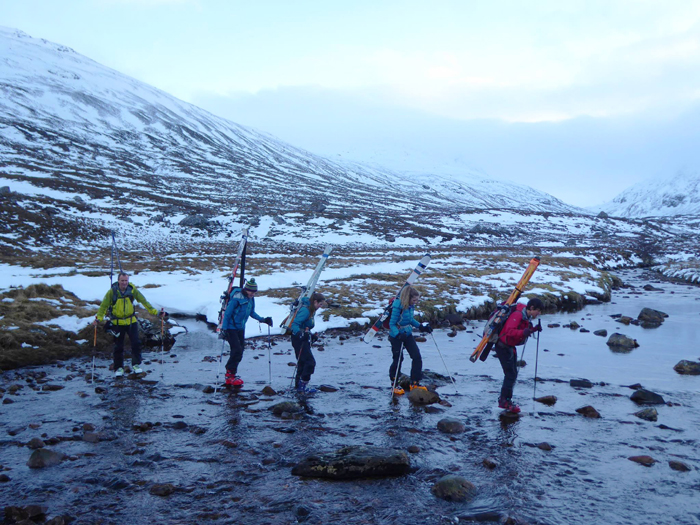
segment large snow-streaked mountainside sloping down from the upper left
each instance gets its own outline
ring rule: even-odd
[[[37,213],[65,219],[76,196],[93,216],[221,229],[268,214],[409,231],[407,212],[580,211],[485,176],[409,178],[331,161],[18,30],[0,28],[0,89],[0,187],[13,202],[33,196],[22,201],[20,235]]]

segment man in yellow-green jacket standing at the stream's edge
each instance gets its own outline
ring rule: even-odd
[[[105,294],[97,311],[97,317],[93,324],[102,321],[105,314],[110,317],[112,324],[110,331],[114,334],[114,376],[124,375],[124,338],[129,335],[131,341],[131,368],[135,374],[143,372],[141,368],[141,341],[139,340],[139,323],[134,311],[134,302],[141,303],[148,313],[158,315],[158,310],[153,308],[141,292],[133,284],[129,284],[129,275],[121,272],[119,279]],[[161,311],[165,317],[165,312]]]

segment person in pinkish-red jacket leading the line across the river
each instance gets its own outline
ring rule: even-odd
[[[520,407],[512,401],[513,386],[518,378],[518,351],[515,347],[525,344],[531,334],[542,330],[541,325],[533,326],[532,321],[537,319],[543,308],[544,304],[537,298],[530,299],[527,305],[518,304],[503,325],[496,343],[496,356],[501,362],[504,375],[498,406],[514,414],[520,412]]]

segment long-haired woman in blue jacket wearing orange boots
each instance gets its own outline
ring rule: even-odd
[[[401,363],[403,361],[403,348],[406,348],[411,356],[411,390],[422,388],[420,380],[423,378],[423,359],[418,350],[416,340],[413,338],[413,327],[421,332],[431,333],[433,329],[428,323],[420,324],[413,318],[413,307],[418,304],[420,293],[412,286],[406,286],[399,298],[391,305],[391,318],[389,319],[389,342],[391,343],[391,354],[393,360],[389,367],[389,378],[391,384],[395,385],[394,394],[404,394],[404,389],[396,382],[396,378],[401,375]]]

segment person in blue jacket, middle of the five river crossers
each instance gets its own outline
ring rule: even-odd
[[[316,360],[311,353],[311,343],[316,341],[316,334],[311,334],[314,327],[314,315],[316,310],[325,305],[325,298],[322,294],[315,292],[311,297],[304,297],[301,300],[301,308],[292,321],[292,346],[294,355],[297,358],[297,372],[295,385],[297,392],[301,394],[313,394],[315,388],[309,388],[311,374],[316,369]]]

